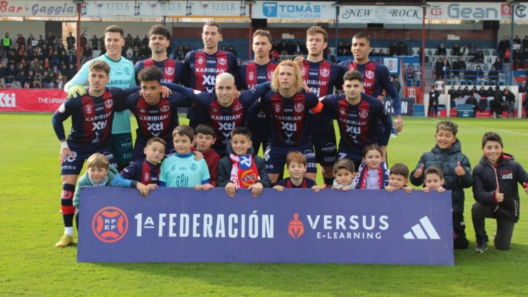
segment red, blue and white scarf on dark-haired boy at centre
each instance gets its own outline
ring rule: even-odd
[[[230,154],[229,158],[233,162],[230,178],[233,184],[241,188],[248,188],[261,180],[252,155]]]

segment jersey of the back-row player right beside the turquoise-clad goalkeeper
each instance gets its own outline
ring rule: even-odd
[[[185,83],[185,65],[183,62],[176,61],[171,58],[167,58],[165,61],[157,62],[152,58],[148,58],[142,61],[137,61],[134,65],[135,70],[135,82],[140,85],[140,81],[137,80],[137,74],[142,69],[155,66],[162,71],[163,77],[161,83]]]

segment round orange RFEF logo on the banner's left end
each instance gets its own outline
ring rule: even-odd
[[[99,210],[91,221],[91,230],[105,243],[120,241],[129,230],[129,218],[119,208],[109,206]]]

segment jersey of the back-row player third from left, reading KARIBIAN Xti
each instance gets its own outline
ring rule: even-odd
[[[232,52],[218,50],[214,54],[207,54],[203,50],[194,50],[186,54],[184,64],[188,79],[186,87],[212,94],[217,75],[229,72],[234,76],[238,61]],[[190,108],[187,118],[196,123],[206,122],[206,115],[199,107]]]

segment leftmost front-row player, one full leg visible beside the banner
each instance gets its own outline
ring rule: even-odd
[[[110,123],[116,109],[113,98],[121,96],[123,91],[119,88],[105,88],[111,69],[104,61],[94,61],[87,68],[90,86],[87,94],[85,91],[85,95],[65,101],[52,118],[55,134],[61,142],[61,212],[65,226],[63,237],[55,244],[57,248],[65,248],[74,242],[75,207],[72,199],[85,159],[94,153],[102,153],[109,159],[109,163],[115,166],[108,147],[112,129]],[[63,122],[70,116],[72,129],[66,140]]]

